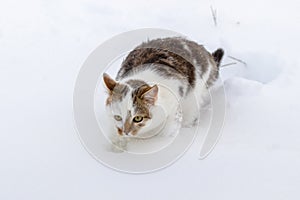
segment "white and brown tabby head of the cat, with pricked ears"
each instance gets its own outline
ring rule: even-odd
[[[157,85],[150,86],[142,80],[117,82],[103,74],[108,91],[106,106],[112,114],[117,133],[123,136],[137,136],[144,127],[151,124],[158,96]]]

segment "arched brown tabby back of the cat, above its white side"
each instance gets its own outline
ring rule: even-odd
[[[123,61],[117,80],[145,70],[163,78],[181,80],[191,88],[207,72],[207,83],[218,77],[212,55],[202,45],[181,37],[150,40],[137,46]]]

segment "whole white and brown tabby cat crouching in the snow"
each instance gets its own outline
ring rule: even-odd
[[[217,80],[223,55],[223,49],[211,54],[182,37],[148,40],[137,46],[115,79],[103,74],[106,106],[116,134],[148,138],[167,132],[174,120],[183,127],[197,124],[197,105],[203,105],[207,88]]]

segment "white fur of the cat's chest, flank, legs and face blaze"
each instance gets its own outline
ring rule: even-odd
[[[201,69],[200,67],[196,68]],[[137,72],[128,78],[120,80],[120,83],[126,84],[126,81],[130,79],[139,79],[151,86],[155,84],[158,86],[157,101],[151,110],[153,116],[150,120],[151,122],[147,122],[147,126],[143,127],[135,137],[150,138],[156,135],[175,136],[181,126],[192,127],[196,125],[200,117],[200,108],[208,95],[206,82],[210,77],[211,68],[212,66],[208,67],[207,72],[202,75],[202,78],[199,77],[200,72],[196,73],[195,88],[187,96],[184,95],[184,97],[180,96],[179,87],[183,87],[183,90],[186,91],[188,83],[184,84],[177,79],[162,77],[151,69]],[[134,112],[132,110],[131,92],[128,92],[121,103],[112,103],[111,111],[113,115],[120,115],[125,119],[128,111]],[[116,125],[120,128],[123,127],[122,122],[116,121]],[[126,136],[112,137],[112,142],[119,150],[126,150],[128,139],[130,138]]]

